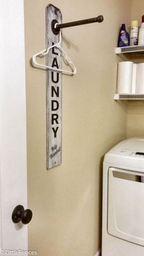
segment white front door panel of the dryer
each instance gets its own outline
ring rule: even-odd
[[[142,170],[143,171],[143,170]],[[107,232],[144,246],[144,172],[109,168]]]

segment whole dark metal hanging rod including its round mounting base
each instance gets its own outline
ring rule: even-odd
[[[52,20],[51,29],[55,35],[58,35],[59,30],[65,28],[65,27],[80,26],[80,25],[90,24],[90,23],[95,23],[95,22],[101,23],[101,22],[103,22],[103,20],[104,20],[103,15],[99,15],[98,17],[95,17],[95,18],[89,18],[87,20],[79,20],[79,21],[73,21],[73,22],[68,22],[68,23],[63,23],[63,24],[57,24],[56,20]]]

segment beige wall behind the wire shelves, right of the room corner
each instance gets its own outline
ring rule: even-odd
[[[131,20],[139,20],[144,15],[144,1],[132,0]],[[134,62],[144,62],[143,56],[135,57]],[[127,136],[143,136],[144,137],[144,102],[130,101],[128,103],[128,123]]]

